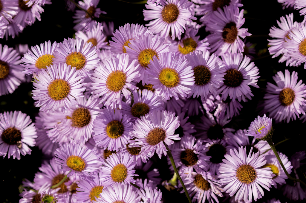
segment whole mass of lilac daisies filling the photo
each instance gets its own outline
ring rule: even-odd
[[[2,20],[2,10],[9,13],[3,2],[18,1],[0,0]],[[50,1],[20,2],[33,9]],[[68,10],[76,9],[74,1],[66,2]],[[50,157],[33,182],[23,182],[20,203],[159,203],[161,184],[182,193],[184,187],[199,203],[218,203],[223,196],[252,202],[272,186],[290,199],[305,198],[300,182],[285,184],[287,172],[298,178],[305,151],[289,161],[270,150],[272,119],[288,123],[305,115],[306,87],[296,72],[278,72],[275,84],[268,83],[263,112],[269,117],[258,116],[248,130],[225,127],[239,115],[241,102],[254,96],[251,86],[259,88],[250,55],[255,50],[241,40],[251,34],[241,28],[239,0],[149,0],[147,27],[127,23],[117,30],[96,21],[106,14],[98,3],[77,3],[75,38],[31,49],[0,45],[0,95],[30,76],[40,110],[34,123],[20,111],[0,114],[0,155],[20,159],[38,146]],[[192,21],[195,16],[201,24]],[[292,18],[271,29],[278,40],[269,50],[298,66],[306,55],[306,29]],[[211,34],[200,40],[202,26]],[[199,122],[189,122],[201,114]],[[152,168],[155,154],[168,154],[169,180],[162,182]]]

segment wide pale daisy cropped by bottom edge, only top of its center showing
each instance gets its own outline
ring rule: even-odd
[[[98,203],[114,203],[114,202],[129,202],[138,203],[140,196],[133,191],[133,186],[126,184],[112,184],[110,187],[106,187],[102,190],[100,197],[102,201],[98,200]]]

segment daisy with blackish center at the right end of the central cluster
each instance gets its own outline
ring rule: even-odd
[[[222,61],[225,64],[226,74],[224,76],[223,85],[220,87],[219,92],[222,94],[222,99],[226,101],[226,98],[230,96],[230,99],[240,102],[241,99],[245,101],[244,96],[251,93],[250,85],[259,88],[257,85],[257,79],[260,77],[259,69],[251,62],[251,59],[247,56],[243,57],[242,53],[236,54],[224,54],[222,55]]]

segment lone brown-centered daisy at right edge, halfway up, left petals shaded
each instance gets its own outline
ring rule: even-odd
[[[282,120],[289,123],[290,119],[296,120],[299,114],[305,114],[302,106],[305,106],[306,87],[302,80],[297,82],[297,72],[293,71],[290,76],[289,70],[285,70],[285,75],[279,71],[273,77],[277,86],[267,83],[267,93],[263,97],[264,110],[269,112],[277,122]]]

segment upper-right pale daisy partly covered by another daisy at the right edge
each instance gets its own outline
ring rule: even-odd
[[[284,48],[285,38],[289,37],[289,32],[292,31],[293,27],[297,27],[298,23],[293,22],[293,13],[289,14],[289,16],[286,15],[286,18],[284,16],[281,17],[281,22],[277,20],[277,24],[280,28],[277,28],[275,26],[271,27],[270,29],[270,37],[274,37],[277,39],[272,39],[268,41],[270,42],[270,47],[268,48],[269,52],[272,56],[272,59],[279,56],[280,54],[283,54],[281,59],[279,59],[278,62],[284,62],[285,60],[289,59],[289,56],[286,56],[284,53],[288,52],[287,49]]]

